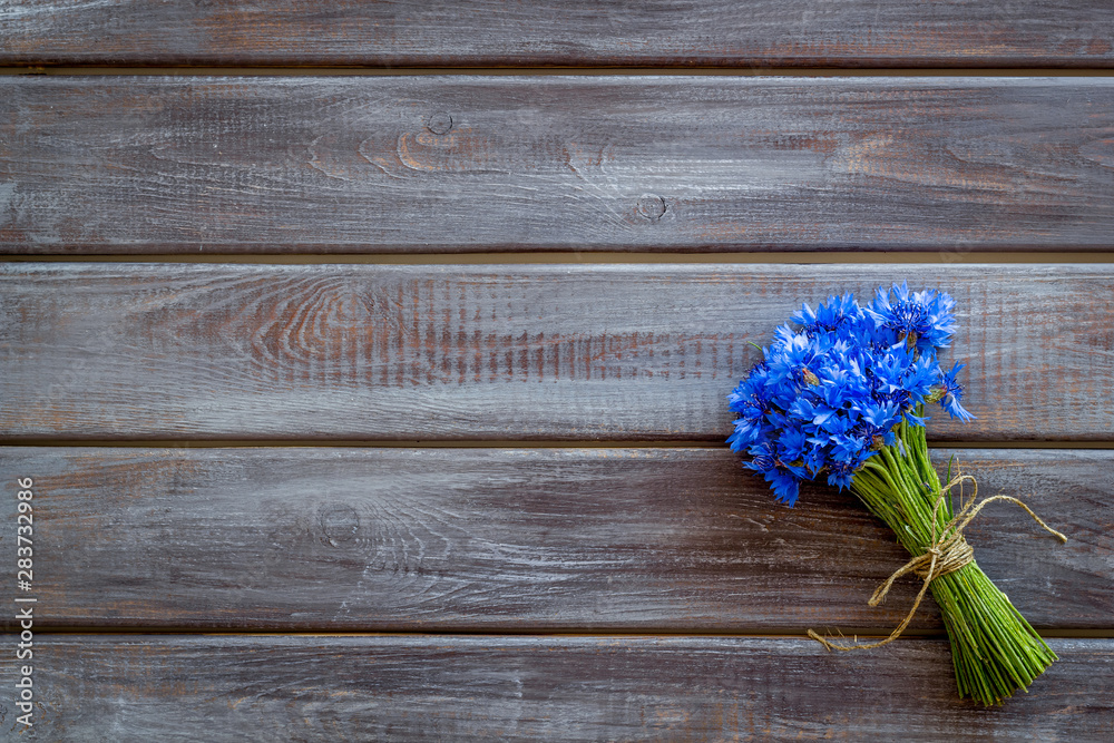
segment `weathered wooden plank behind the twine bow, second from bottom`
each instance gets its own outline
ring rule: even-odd
[[[1026,617],[1114,627],[1114,452],[952,453],[1071,538],[1005,506],[970,527]],[[725,448],[0,449],[25,477],[40,627],[878,632],[919,588],[867,606],[908,559],[892,534],[829,488],[775,505]]]

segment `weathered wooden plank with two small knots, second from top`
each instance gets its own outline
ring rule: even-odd
[[[1111,78],[9,77],[0,251],[1108,250],[1112,131]]]

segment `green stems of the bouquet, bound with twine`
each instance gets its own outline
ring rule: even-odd
[[[919,407],[917,414],[922,412]],[[940,499],[925,428],[902,421],[893,430],[895,443],[883,446],[856,472],[851,490],[910,555],[924,555],[956,528],[955,511],[950,497]],[[948,470],[946,481],[950,465]],[[929,590],[944,614],[960,696],[998,704],[1025,690],[1056,659],[974,560],[932,579]]]

